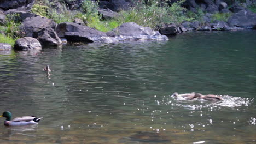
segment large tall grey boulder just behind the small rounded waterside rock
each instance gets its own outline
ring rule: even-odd
[[[45,17],[30,17],[20,26],[26,37],[36,38],[43,47],[61,46],[61,40],[56,34],[56,23]]]

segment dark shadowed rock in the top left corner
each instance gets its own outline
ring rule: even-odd
[[[17,9],[20,7],[25,7],[25,9],[30,10],[35,0],[1,0],[0,8],[3,10]]]

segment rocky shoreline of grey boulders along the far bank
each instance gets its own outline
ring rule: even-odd
[[[248,1],[249,3],[250,1]],[[81,1],[66,1],[70,10],[77,10]],[[24,38],[20,38],[14,45],[15,50],[42,49],[49,46],[62,46],[66,42],[83,43],[118,43],[119,41],[131,40],[168,40],[166,35],[176,35],[187,31],[236,31],[238,29],[256,29],[256,13],[246,7],[234,3],[228,8],[224,1],[210,0],[187,0],[183,7],[190,11],[196,8],[206,11],[203,15],[203,23],[199,21],[183,22],[176,25],[168,23],[159,27],[159,31],[153,31],[149,27],[139,26],[134,22],[123,23],[121,26],[109,32],[101,32],[88,27],[83,21],[76,19],[74,22],[62,22],[56,24],[53,20],[31,13],[30,9],[34,0],[1,1],[0,23],[4,23],[7,14],[19,14],[21,21],[20,31]],[[171,2],[170,2],[171,4]],[[99,13],[106,19],[118,15],[118,10],[129,9],[131,1],[100,1]],[[246,3],[245,3],[246,5]],[[113,10],[113,11],[112,11]],[[228,21],[212,20],[214,13],[230,13]],[[1,32],[4,34],[3,32]],[[0,43],[0,50],[11,51],[9,44]]]

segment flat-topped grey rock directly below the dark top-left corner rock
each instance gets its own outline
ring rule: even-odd
[[[15,17],[16,22],[22,22],[28,17],[37,17],[39,15],[33,14],[33,13],[28,13],[26,11],[16,11],[15,10],[7,10],[5,11],[5,14],[18,14],[18,16]]]

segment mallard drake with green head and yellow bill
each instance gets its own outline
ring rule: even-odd
[[[40,119],[43,117],[34,117],[34,116],[25,116],[25,117],[16,117],[11,121],[11,113],[9,111],[3,112],[0,117],[5,117],[4,125],[5,126],[21,126],[21,125],[33,125],[38,124]]]

